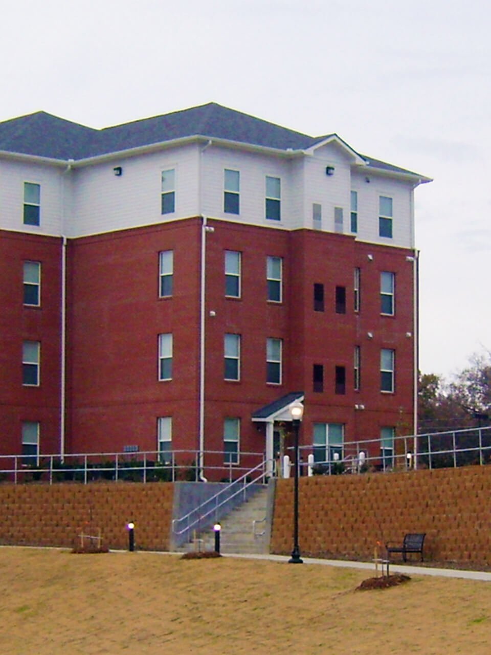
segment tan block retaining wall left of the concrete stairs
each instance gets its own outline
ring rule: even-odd
[[[128,548],[126,523],[135,523],[142,550],[168,550],[171,483],[0,485],[0,544],[67,546],[80,543],[83,528],[101,529],[103,546]]]

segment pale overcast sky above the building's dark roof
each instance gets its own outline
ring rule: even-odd
[[[491,3],[7,0],[0,121],[104,127],[206,102],[434,178],[416,189],[420,368],[491,350]]]

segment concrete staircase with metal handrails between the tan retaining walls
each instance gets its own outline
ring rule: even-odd
[[[266,525],[268,487],[259,489],[249,500],[221,519],[221,553],[268,553],[270,527]],[[253,521],[262,521],[253,534]],[[186,544],[182,551],[215,550],[213,530],[198,535],[195,543]]]

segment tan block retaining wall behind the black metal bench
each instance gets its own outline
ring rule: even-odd
[[[303,555],[373,557],[377,541],[426,533],[425,559],[491,565],[491,466],[300,478]],[[293,546],[293,479],[278,480],[271,552]]]

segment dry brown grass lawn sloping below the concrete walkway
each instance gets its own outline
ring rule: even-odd
[[[0,653],[489,655],[491,584],[156,553],[0,548]]]

